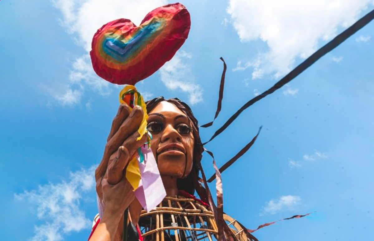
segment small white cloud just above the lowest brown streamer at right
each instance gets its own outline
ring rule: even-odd
[[[281,196],[278,200],[272,199],[269,202],[266,202],[266,205],[262,207],[260,215],[276,214],[279,211],[292,211],[300,206],[300,204],[301,198],[299,196]]]

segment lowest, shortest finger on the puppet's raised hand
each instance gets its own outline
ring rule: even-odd
[[[108,183],[115,185],[120,182],[123,176],[123,169],[129,162],[129,151],[124,146],[120,146],[108,163],[107,176]]]

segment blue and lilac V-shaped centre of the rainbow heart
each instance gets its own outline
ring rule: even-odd
[[[103,41],[102,49],[116,61],[126,62],[135,52],[144,47],[150,38],[156,37],[161,32],[160,27],[162,27],[162,22],[152,21],[140,28],[127,43],[122,41],[122,36],[113,38],[109,35]]]

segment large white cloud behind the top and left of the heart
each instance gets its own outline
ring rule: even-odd
[[[91,50],[93,35],[102,25],[118,18],[128,18],[139,25],[145,15],[156,7],[165,5],[166,0],[51,0],[62,13],[59,19],[77,44],[86,54],[77,58],[70,72],[66,92],[50,91],[61,105],[75,105],[80,102],[85,88],[90,87],[101,95],[111,92],[112,86],[93,71],[88,52]]]

